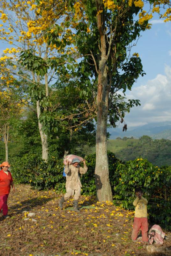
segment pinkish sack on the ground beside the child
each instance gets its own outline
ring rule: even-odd
[[[153,225],[148,232],[149,244],[152,244],[153,242],[155,242],[156,244],[163,244],[164,237],[165,233],[159,225]]]

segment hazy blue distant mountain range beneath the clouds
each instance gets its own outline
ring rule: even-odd
[[[153,139],[167,139],[171,140],[171,123],[164,122],[164,123],[151,123],[145,124],[143,126],[138,126],[132,130],[128,130],[126,132],[122,131],[121,128],[109,128],[108,132],[111,134],[110,139],[116,139],[117,137],[134,137],[140,138],[143,135],[148,135]]]

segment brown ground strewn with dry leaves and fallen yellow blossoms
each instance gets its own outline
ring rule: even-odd
[[[91,196],[80,198],[79,213],[72,211],[72,199],[60,210],[61,196],[52,190],[16,185],[8,199],[11,218],[0,217],[0,255],[147,255],[146,245],[131,241],[133,212],[99,203]],[[35,216],[24,220],[30,212]],[[163,247],[171,251],[170,240],[164,241]]]

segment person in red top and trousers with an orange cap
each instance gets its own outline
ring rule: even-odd
[[[4,218],[9,218],[8,215],[8,205],[7,199],[10,193],[11,186],[15,192],[11,172],[8,171],[10,164],[8,162],[3,162],[0,164],[0,212],[3,211]]]

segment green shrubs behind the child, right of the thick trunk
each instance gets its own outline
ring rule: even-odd
[[[171,168],[152,165],[146,159],[136,159],[119,164],[119,175],[115,186],[115,200],[121,200],[122,207],[133,210],[135,188],[141,187],[148,200],[148,214],[155,224],[171,229]]]

